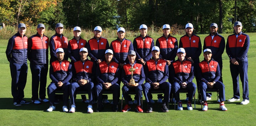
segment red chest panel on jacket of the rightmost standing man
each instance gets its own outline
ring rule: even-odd
[[[228,41],[229,41],[229,48],[232,47],[244,47],[246,36],[245,35],[239,35],[238,38],[236,39],[236,36],[229,36]]]

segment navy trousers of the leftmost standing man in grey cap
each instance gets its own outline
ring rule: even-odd
[[[10,61],[11,71],[11,93],[14,98],[14,102],[20,103],[24,97],[24,88],[27,82],[28,66],[25,64],[16,64]]]

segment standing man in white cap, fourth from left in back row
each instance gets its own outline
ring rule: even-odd
[[[68,43],[68,57],[71,60],[71,64],[74,65],[74,62],[80,60],[79,51],[81,48],[86,47],[87,41],[82,39],[81,28],[76,26],[73,30],[74,38],[69,40]],[[88,103],[85,95],[81,95],[82,101]]]

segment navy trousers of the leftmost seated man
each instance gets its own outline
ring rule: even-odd
[[[63,106],[68,105],[68,98],[69,98],[69,86],[70,83],[66,82],[62,85],[62,87],[58,87],[57,84],[51,82],[50,85],[47,87],[47,94],[50,101],[50,105],[55,106],[55,90],[62,90],[63,91]]]

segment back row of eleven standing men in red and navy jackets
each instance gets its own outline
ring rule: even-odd
[[[183,47],[184,50],[186,50],[185,59],[192,62],[194,66],[194,70],[198,70],[199,55],[201,54],[201,51],[202,51],[201,40],[199,36],[196,36],[193,34],[193,25],[191,23],[188,23],[185,28],[186,28],[186,35],[180,38],[179,47],[180,48]],[[104,55],[108,48],[113,50],[113,57],[114,57],[113,61],[116,62],[118,64],[118,67],[120,68],[123,68],[123,65],[126,65],[129,63],[129,60],[128,60],[129,58],[127,58],[127,56],[130,50],[134,50],[136,53],[135,56],[137,56],[137,58],[135,62],[136,63],[138,62],[138,64],[142,64],[144,66],[146,65],[146,61],[149,61],[150,58],[152,57],[151,50],[154,47],[154,40],[153,38],[147,35],[147,27],[144,24],[140,26],[140,33],[141,33],[140,36],[135,38],[133,43],[130,40],[127,40],[125,38],[126,32],[124,28],[122,27],[119,28],[117,30],[117,35],[118,35],[117,40],[112,41],[110,46],[108,44],[107,39],[101,37],[102,29],[100,26],[95,27],[94,38],[90,39],[88,42],[86,42],[86,40],[80,37],[80,34],[81,34],[80,27],[74,28],[74,38],[69,42],[68,42],[68,39],[62,34],[63,29],[64,29],[63,24],[58,23],[55,28],[56,34],[49,39],[47,36],[43,34],[45,31],[45,26],[43,24],[38,24],[37,34],[31,36],[30,38],[27,38],[25,36],[26,25],[22,23],[18,25],[18,33],[10,38],[7,45],[7,49],[6,49],[6,56],[8,61],[10,61],[10,70],[11,70],[11,77],[12,77],[12,96],[14,97],[15,106],[20,106],[21,104],[30,103],[23,99],[24,97],[23,89],[25,88],[26,78],[27,78],[27,59],[30,60],[30,67],[32,72],[32,102],[40,103],[40,102],[48,101],[46,99],[46,94],[45,94],[46,78],[47,78],[46,76],[48,72],[48,44],[50,47],[50,55],[51,55],[50,56],[51,57],[50,58],[50,65],[51,65],[50,77],[54,76],[55,72],[57,71],[57,69],[55,68],[56,71],[52,72],[51,67],[53,65],[52,63],[58,60],[57,52],[56,52],[58,48],[63,49],[63,52],[65,53],[64,59],[67,60],[69,57],[71,59],[71,65],[73,66],[75,66],[74,63],[76,61],[79,61],[81,59],[81,55],[78,55],[78,54],[80,53],[80,49],[83,47],[87,47],[88,56],[91,58],[91,61],[94,62],[95,65],[105,60]],[[163,36],[157,39],[155,45],[159,47],[160,58],[165,60],[167,66],[171,66],[170,64],[175,61],[176,54],[178,54],[177,52],[178,42],[175,37],[170,35],[170,25],[165,24],[163,25],[162,29],[163,29]],[[241,29],[242,29],[241,22],[236,22],[234,24],[235,34],[230,35],[228,37],[227,44],[226,44],[226,52],[230,57],[230,71],[231,71],[231,76],[233,78],[233,87],[234,87],[234,97],[228,101],[230,102],[240,101],[239,81],[238,81],[239,80],[238,74],[240,74],[240,77],[242,80],[242,86],[243,86],[243,101],[241,102],[241,104],[247,104],[249,103],[249,90],[248,90],[248,79],[247,79],[247,66],[248,66],[247,51],[249,49],[250,40],[248,35],[241,32]],[[203,49],[208,48],[211,50],[213,59],[219,63],[219,69],[221,73],[222,54],[225,48],[225,40],[222,36],[218,34],[217,30],[218,30],[217,24],[212,23],[210,25],[211,33],[209,36],[205,38]],[[201,78],[198,78],[197,71],[194,71],[194,72],[195,72],[197,84],[199,84]],[[79,71],[75,72],[75,74],[78,74],[78,73]],[[158,76],[158,74],[156,74],[155,76]],[[63,77],[61,77],[60,75],[62,74],[56,74],[55,76],[63,79]],[[149,76],[151,76],[151,74]],[[73,78],[75,78],[74,75],[73,75]],[[58,80],[58,82],[63,81],[62,79]],[[52,81],[54,82],[53,79]],[[76,79],[76,81],[79,81],[79,80]],[[97,82],[97,79],[95,80],[90,79],[89,81],[86,80],[84,82],[81,82],[81,81],[80,82],[90,83],[94,81]],[[222,82],[221,75],[220,75],[219,81]],[[40,82],[40,87],[39,87],[39,82]],[[150,81],[146,80],[146,82],[150,82]],[[172,80],[170,76],[169,82],[172,83],[172,82],[175,82],[175,80]],[[216,83],[216,81],[214,82]],[[118,83],[120,85],[120,79]],[[124,85],[126,85],[126,82],[123,82],[123,83]],[[180,85],[182,85],[182,83]],[[57,83],[55,83],[55,85],[58,86]],[[107,84],[103,86],[106,86],[106,85]],[[154,85],[154,84],[151,84],[151,85]],[[39,97],[38,97],[38,88],[39,88]],[[138,100],[139,96],[140,95],[138,95],[136,98],[137,101],[139,101]],[[159,96],[159,98],[161,98],[161,96]],[[89,96],[89,99],[90,99],[90,96]],[[129,98],[125,97],[125,99],[128,100]],[[148,99],[150,100],[150,98]],[[167,100],[164,100],[164,101],[166,102]],[[203,99],[203,101],[205,100]],[[90,100],[89,102],[92,102],[92,101]],[[162,107],[163,111],[168,110],[168,109],[166,110],[166,106],[164,106],[166,105],[165,102]],[[149,106],[148,106],[147,112],[151,112],[150,102],[148,103],[149,103]],[[182,104],[178,104],[178,108],[181,108],[180,105],[182,107]],[[204,102],[204,105],[207,106],[206,101]],[[141,112],[141,108],[139,108],[138,106],[137,106],[137,111]],[[66,111],[67,108],[63,107],[63,110],[64,108]],[[91,108],[91,106],[89,106],[89,108]],[[129,106],[125,106],[124,111],[126,111],[125,108],[128,110]],[[52,109],[55,109],[55,108],[52,108]],[[101,107],[98,106],[97,110],[100,110],[100,109]],[[117,107],[115,109],[117,109]],[[115,109],[113,108],[113,110]],[[207,109],[204,109],[204,110],[207,110]],[[74,112],[74,111],[70,109],[70,112]],[[92,109],[91,110],[88,109],[88,112],[90,113],[93,111]]]

